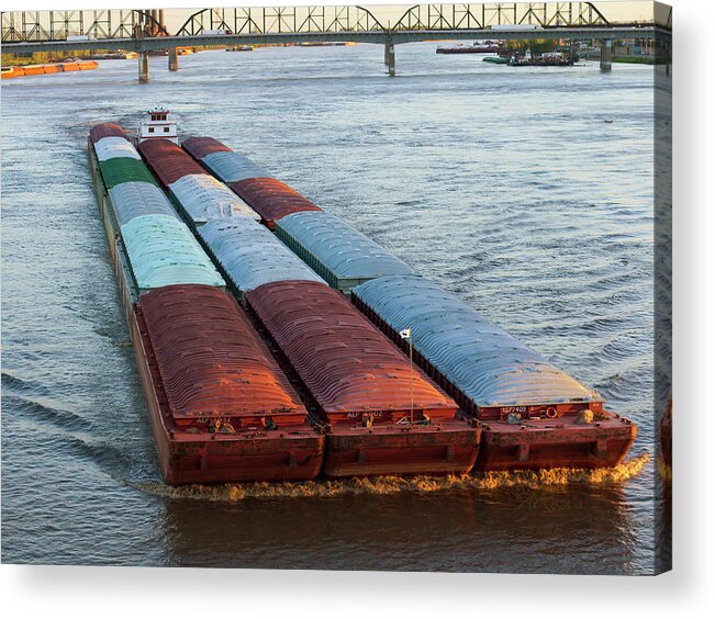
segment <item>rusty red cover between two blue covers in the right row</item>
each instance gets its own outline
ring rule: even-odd
[[[250,178],[228,185],[258,213],[269,226],[286,215],[300,211],[322,211],[308,198],[286,183],[271,178]]]

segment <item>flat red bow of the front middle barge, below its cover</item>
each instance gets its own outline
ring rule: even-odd
[[[481,429],[465,421],[426,426],[333,426],[326,435],[327,477],[466,475],[474,466]]]

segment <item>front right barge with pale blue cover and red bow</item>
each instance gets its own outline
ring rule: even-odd
[[[480,420],[476,470],[615,466],[636,439],[597,393],[429,280],[371,280],[353,302],[398,344],[409,328],[420,367]]]

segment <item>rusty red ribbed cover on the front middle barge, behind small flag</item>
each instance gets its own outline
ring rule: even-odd
[[[457,404],[343,295],[317,282],[283,281],[246,300],[331,421],[375,423],[422,413],[454,418]]]

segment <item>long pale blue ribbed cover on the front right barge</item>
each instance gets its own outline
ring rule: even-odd
[[[429,280],[380,278],[353,293],[398,333],[411,327],[414,349],[478,406],[602,399]]]

